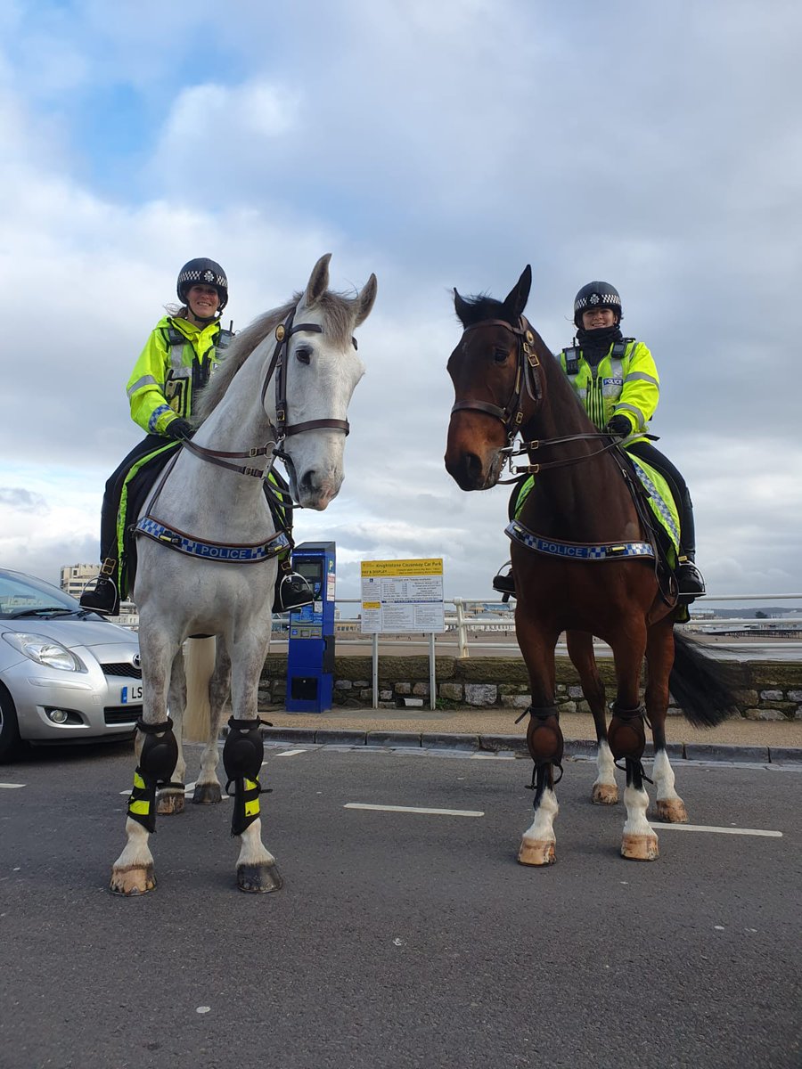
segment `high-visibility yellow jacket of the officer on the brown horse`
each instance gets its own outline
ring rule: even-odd
[[[660,376],[642,341],[624,338],[614,342],[596,367],[588,363],[581,348],[564,348],[559,361],[599,430],[604,430],[613,416],[627,416],[633,431],[646,433],[660,401]]]

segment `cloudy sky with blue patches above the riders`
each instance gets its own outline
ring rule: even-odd
[[[582,284],[620,291],[708,589],[802,590],[796,0],[0,0],[0,564],[96,559],[186,260],[223,265],[243,327],[331,252],[336,289],[379,278],[343,489],[296,522],[336,541],[339,597],[430,556],[492,597],[507,491],[443,466],[450,294],[527,263],[552,348]]]

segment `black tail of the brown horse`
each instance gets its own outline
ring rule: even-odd
[[[668,688],[685,719],[698,728],[713,728],[737,711],[738,667],[703,653],[701,647],[674,632],[674,668]]]

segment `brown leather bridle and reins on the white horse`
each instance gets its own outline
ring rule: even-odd
[[[255,479],[267,479],[268,475],[273,469],[273,465],[276,459],[288,460],[287,454],[280,448],[284,438],[288,438],[291,434],[303,434],[305,431],[317,431],[321,428],[328,428],[335,431],[342,431],[343,434],[348,434],[351,430],[349,421],[346,419],[308,419],[303,423],[288,423],[287,422],[287,353],[289,347],[290,339],[294,334],[298,334],[302,330],[311,334],[323,334],[323,327],[317,323],[294,323],[295,312],[297,311],[297,305],[293,305],[288,313],[287,317],[282,323],[279,323],[275,330],[276,346],[273,350],[273,356],[271,357],[271,362],[267,366],[267,370],[264,375],[264,381],[262,383],[262,390],[260,393],[260,404],[264,407],[264,399],[267,393],[267,388],[271,384],[271,379],[274,374],[276,376],[276,422],[271,423],[271,434],[273,438],[264,446],[259,446],[253,449],[247,449],[244,451],[236,452],[225,452],[219,449],[209,449],[205,446],[199,446],[197,443],[187,438],[182,441],[184,449],[188,450],[195,456],[200,460],[207,461],[210,464],[216,464],[218,467],[228,468],[231,471],[236,471],[238,475],[252,476]],[[352,339],[354,347],[356,347],[356,339]],[[248,467],[241,464],[231,464],[232,460],[252,460],[257,456],[269,456],[271,461],[264,469]],[[268,484],[266,484],[268,485]],[[281,503],[283,508],[298,508],[294,502],[290,503],[287,501],[287,496],[282,496]]]

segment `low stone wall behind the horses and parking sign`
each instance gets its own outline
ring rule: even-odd
[[[731,664],[741,715],[753,721],[802,719],[802,664],[754,661]],[[614,695],[613,663],[600,659],[599,672],[608,696]],[[561,712],[587,712],[576,669],[568,657],[557,657],[557,704]],[[474,706],[477,709],[524,710],[530,703],[526,667],[521,657],[435,657],[437,709]],[[282,706],[287,695],[287,655],[269,654],[259,688],[261,708]],[[417,699],[417,700],[416,700]],[[335,659],[334,703],[370,709],[373,701],[370,656]],[[429,706],[429,657],[380,656],[379,706]],[[672,706],[669,714],[681,715]]]

